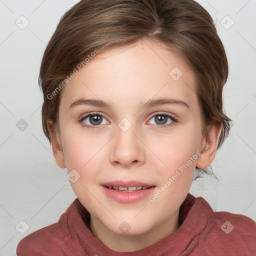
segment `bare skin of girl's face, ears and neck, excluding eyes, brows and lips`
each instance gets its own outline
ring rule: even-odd
[[[173,67],[182,71],[174,80]],[[188,86],[189,85],[189,86]],[[59,167],[75,169],[80,178],[72,183],[79,201],[91,214],[91,229],[115,251],[135,251],[175,231],[179,207],[192,183],[195,167],[205,168],[215,156],[220,126],[212,124],[202,135],[201,111],[195,79],[187,62],[165,45],[149,39],[99,52],[62,89],[59,106],[59,139],[51,121],[52,149]],[[173,98],[188,104],[141,107],[149,99]],[[80,98],[110,102],[110,107],[70,105]],[[84,115],[97,111],[102,124],[92,125]],[[154,114],[166,118],[166,127]],[[127,131],[118,123],[126,118]],[[135,203],[119,203],[102,192],[100,184],[113,180],[138,180],[155,185],[156,192],[182,163],[196,152],[200,156],[153,202],[148,196]],[[152,194],[154,194],[152,192]],[[151,195],[152,195],[151,194]],[[126,221],[130,230],[118,226]],[[166,228],[168,227],[168,228]]]

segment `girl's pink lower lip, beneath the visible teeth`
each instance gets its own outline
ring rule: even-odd
[[[134,192],[124,192],[121,190],[109,189],[106,186],[102,186],[104,193],[111,199],[121,203],[133,203],[138,202],[148,196],[154,190],[155,186],[151,186],[147,189],[140,189]]]

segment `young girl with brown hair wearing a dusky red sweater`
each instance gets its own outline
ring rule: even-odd
[[[252,219],[188,193],[229,131],[227,74],[212,18],[193,0],[81,0],[67,11],[39,81],[43,130],[77,198],[17,255],[255,255]]]

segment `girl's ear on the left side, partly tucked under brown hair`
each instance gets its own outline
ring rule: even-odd
[[[57,137],[56,131],[54,131],[52,120],[47,120],[47,128],[50,133],[52,152],[55,158],[55,162],[60,168],[65,168],[66,164],[65,164],[63,150],[60,144],[60,140]]]

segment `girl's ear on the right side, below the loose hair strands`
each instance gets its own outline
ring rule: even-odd
[[[215,122],[209,127],[206,137],[203,138],[202,140],[200,150],[201,154],[199,155],[196,161],[197,168],[207,168],[213,161],[216,153],[221,128],[222,125],[217,122]]]

